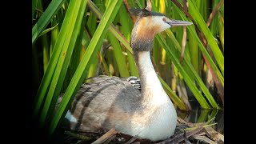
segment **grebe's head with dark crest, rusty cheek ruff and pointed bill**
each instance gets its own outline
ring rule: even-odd
[[[174,26],[189,26],[193,24],[191,22],[170,19],[164,14],[151,12],[146,9],[131,8],[130,14],[137,17],[134,29],[132,30],[132,38],[130,39],[130,44],[135,51],[149,50],[148,48],[151,47],[155,34],[163,30]]]

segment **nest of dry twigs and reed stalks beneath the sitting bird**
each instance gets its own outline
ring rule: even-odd
[[[69,144],[86,144],[86,143],[110,143],[110,144],[190,144],[190,143],[210,143],[222,144],[224,143],[224,135],[215,131],[207,122],[190,123],[178,118],[177,127],[172,137],[163,141],[152,142],[148,139],[141,139],[132,137],[127,134],[119,133],[111,129],[107,132],[72,132],[65,131],[64,143]]]

